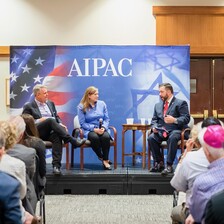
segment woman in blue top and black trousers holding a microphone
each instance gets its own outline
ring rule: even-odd
[[[88,87],[77,107],[78,118],[84,130],[84,136],[90,140],[91,147],[102,161],[104,169],[111,170],[111,161],[109,161],[110,119],[105,102],[98,98],[98,89],[94,86]]]

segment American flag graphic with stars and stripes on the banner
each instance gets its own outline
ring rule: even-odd
[[[34,99],[34,85],[44,84],[63,123],[69,123],[70,119],[73,119],[74,115],[67,110],[68,101],[74,97],[69,87],[71,79],[67,77],[66,63],[56,65],[57,53],[60,52],[56,46],[10,48],[11,114],[21,114],[24,104]]]

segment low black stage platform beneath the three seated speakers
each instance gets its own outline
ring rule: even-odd
[[[70,170],[62,166],[62,175],[52,173],[47,164],[46,194],[110,194],[110,195],[147,195],[173,194],[170,180],[160,173],[150,173],[141,166],[118,165],[117,169],[104,170],[101,164],[85,164],[84,170],[75,166]]]

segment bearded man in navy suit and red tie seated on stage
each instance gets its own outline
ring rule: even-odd
[[[167,175],[173,172],[172,165],[177,152],[177,143],[181,138],[181,130],[186,128],[190,121],[190,114],[187,102],[173,95],[173,87],[170,83],[159,85],[159,96],[162,101],[155,105],[151,122],[152,133],[148,137],[155,162],[150,172],[162,172],[162,175]],[[162,141],[167,141],[166,169],[164,169],[160,148]]]

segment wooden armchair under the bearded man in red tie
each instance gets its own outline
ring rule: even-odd
[[[187,139],[185,139],[185,134],[187,132],[190,134],[193,126],[194,126],[194,118],[191,116],[190,121],[188,123],[188,128],[185,128],[181,131],[181,138],[178,141],[178,149],[181,149],[181,153],[184,152],[184,149],[186,147]],[[148,132],[148,135],[150,135],[150,134],[151,134],[151,131]],[[166,141],[163,141],[162,144],[161,144],[162,153],[164,152],[164,149],[167,149],[167,142]],[[163,158],[164,158],[164,155],[163,155]],[[150,161],[151,161],[151,152],[150,152],[150,147],[149,147],[149,144],[148,144],[148,169],[150,169]]]

